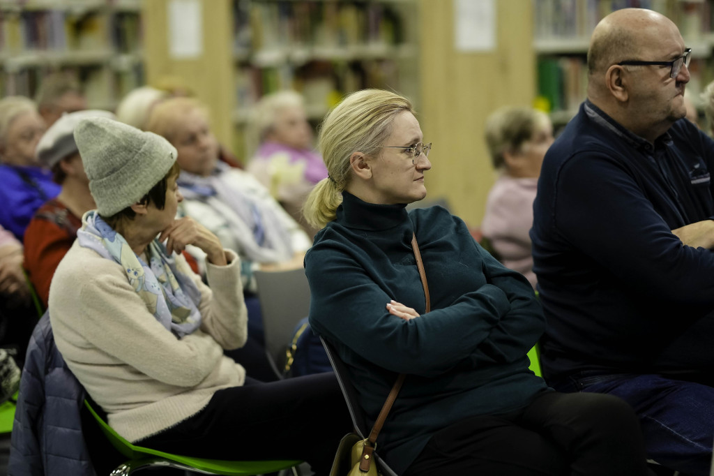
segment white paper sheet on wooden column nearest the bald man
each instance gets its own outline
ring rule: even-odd
[[[456,51],[496,49],[496,0],[453,0]]]

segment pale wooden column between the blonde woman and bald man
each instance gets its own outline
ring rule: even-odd
[[[454,46],[453,0],[421,0],[421,98],[418,119],[433,142],[428,197],[479,226],[496,179],[486,152],[486,117],[500,106],[530,106],[535,97],[531,0],[496,1],[496,49]]]

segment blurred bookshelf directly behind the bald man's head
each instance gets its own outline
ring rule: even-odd
[[[659,11],[679,27],[692,49],[687,96],[698,105],[714,79],[714,0],[534,0],[533,51],[536,55],[538,106],[556,125],[568,122],[585,99],[586,56],[595,25],[616,9]]]

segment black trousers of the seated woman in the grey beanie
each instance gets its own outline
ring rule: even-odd
[[[219,390],[196,415],[138,445],[216,460],[305,460],[328,475],[352,423],[332,372]]]

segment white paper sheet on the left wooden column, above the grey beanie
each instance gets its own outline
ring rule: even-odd
[[[169,55],[195,59],[203,54],[201,0],[169,1]]]

